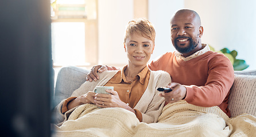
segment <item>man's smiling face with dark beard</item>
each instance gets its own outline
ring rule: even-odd
[[[173,17],[170,25],[173,46],[181,54],[194,53],[201,48],[201,26],[195,15],[179,13]]]

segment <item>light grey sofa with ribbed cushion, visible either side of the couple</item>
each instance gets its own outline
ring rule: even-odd
[[[71,96],[86,81],[89,70],[76,66],[62,67],[57,74],[54,106]],[[256,116],[256,70],[235,71],[228,108],[231,117],[247,113]]]

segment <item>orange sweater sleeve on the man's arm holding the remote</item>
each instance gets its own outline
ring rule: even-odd
[[[228,95],[234,82],[234,68],[224,55],[212,58],[208,63],[208,78],[204,86],[185,86],[188,103],[202,107],[219,106]]]

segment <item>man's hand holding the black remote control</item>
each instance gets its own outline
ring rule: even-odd
[[[184,99],[187,95],[187,88],[179,83],[172,82],[169,83],[167,87],[172,88],[172,91],[161,92],[159,96],[164,97],[168,103],[178,102],[179,100]]]

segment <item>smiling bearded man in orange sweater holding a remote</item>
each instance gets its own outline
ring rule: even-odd
[[[234,82],[234,69],[223,54],[210,51],[201,43],[203,26],[199,15],[188,9],[177,11],[170,21],[171,39],[177,51],[165,53],[152,61],[151,70],[164,70],[172,77],[168,87],[172,92],[162,92],[166,103],[181,99],[201,107],[219,106],[228,116],[228,95]],[[115,67],[94,66],[87,79],[98,79],[97,72]]]

